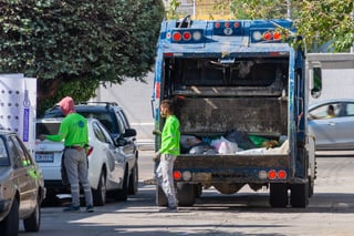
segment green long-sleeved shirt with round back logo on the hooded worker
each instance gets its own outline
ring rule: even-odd
[[[88,129],[85,117],[77,113],[66,115],[59,129],[59,133],[46,135],[46,140],[61,142],[64,140],[64,146],[82,146],[88,145]]]

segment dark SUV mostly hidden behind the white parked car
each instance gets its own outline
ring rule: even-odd
[[[136,143],[136,130],[131,127],[129,121],[122,106],[114,102],[80,102],[75,104],[75,111],[86,119],[97,119],[117,140],[124,151],[129,156],[134,156],[134,162],[129,162],[128,170],[132,174],[128,179],[128,194],[135,195],[138,191],[138,148]],[[59,105],[45,111],[43,117],[63,117]]]

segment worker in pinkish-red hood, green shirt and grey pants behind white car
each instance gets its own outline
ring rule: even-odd
[[[86,212],[93,212],[93,197],[88,183],[88,163],[86,147],[88,146],[88,129],[85,117],[75,112],[74,101],[66,96],[59,102],[65,117],[59,133],[55,135],[41,135],[41,140],[54,142],[64,141],[64,166],[71,187],[72,204],[64,212],[80,212],[80,182],[84,189]]]

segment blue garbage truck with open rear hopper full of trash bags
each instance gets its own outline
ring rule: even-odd
[[[152,106],[162,131],[160,102],[176,104],[179,206],[209,187],[237,194],[244,186],[269,191],[272,207],[308,206],[316,177],[308,101],[321,88],[310,82],[300,40],[283,19],[162,22]],[[167,204],[159,186],[156,204]]]

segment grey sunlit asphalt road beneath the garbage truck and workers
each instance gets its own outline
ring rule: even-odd
[[[271,208],[268,189],[220,195],[204,191],[194,207],[159,213],[152,178],[152,151],[140,151],[139,192],[127,202],[108,202],[94,213],[63,213],[61,206],[42,207],[42,227],[23,236],[111,235],[353,235],[354,155],[321,156],[315,193],[306,208]],[[84,209],[84,208],[83,208]]]

